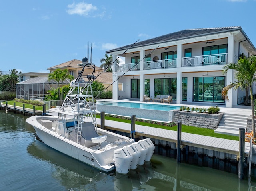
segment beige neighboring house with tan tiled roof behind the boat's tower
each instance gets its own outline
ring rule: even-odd
[[[59,65],[56,65],[56,66],[53,66],[53,67],[50,67],[50,68],[47,68],[47,69],[50,70],[50,72],[52,72],[52,71],[54,71],[58,68],[61,69],[61,70],[67,69],[70,75],[74,76],[74,78],[77,78],[78,75],[82,72],[82,69],[83,69],[82,66],[77,65],[77,64],[80,64],[80,63],[82,63],[81,60],[75,60],[74,59],[74,60],[70,60],[68,62],[59,64]],[[96,66],[95,71],[104,71],[104,69]],[[85,67],[83,75],[89,74],[89,73],[90,74],[92,73],[92,67]]]

